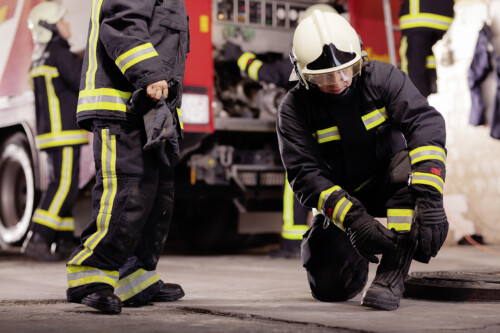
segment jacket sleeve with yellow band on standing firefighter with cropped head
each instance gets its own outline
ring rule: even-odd
[[[167,76],[148,29],[155,4],[155,0],[103,2],[100,39],[108,56],[137,89]]]

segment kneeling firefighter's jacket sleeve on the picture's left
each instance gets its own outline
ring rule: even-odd
[[[298,112],[300,108],[297,98],[288,93],[280,105],[276,122],[279,149],[288,181],[302,205],[315,208],[327,217],[332,217],[333,209],[338,208],[337,212],[343,219],[350,206],[337,205],[345,200],[347,192],[333,182],[312,131]],[[331,204],[327,205],[327,201]]]

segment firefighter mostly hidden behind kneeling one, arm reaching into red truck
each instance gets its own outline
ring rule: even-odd
[[[325,12],[337,11],[327,4],[315,4],[309,6],[303,13],[304,17],[310,15],[314,10]],[[243,52],[239,45],[226,42],[223,49],[225,59],[238,63],[241,72],[255,81],[273,83],[277,87],[291,89],[295,82],[290,81],[290,73],[293,65],[288,57],[279,59],[272,63],[257,59],[253,52]],[[283,228],[281,230],[280,248],[269,252],[271,257],[276,258],[300,258],[300,243],[302,236],[309,228],[309,208],[302,206],[293,194],[292,188],[285,179],[283,186]]]

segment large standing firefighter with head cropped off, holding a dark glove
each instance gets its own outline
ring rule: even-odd
[[[102,312],[175,301],[156,272],[172,217],[189,52],[183,0],[95,0],[78,100],[94,133],[93,220],[68,261],[70,302]]]

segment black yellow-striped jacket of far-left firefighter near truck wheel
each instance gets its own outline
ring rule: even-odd
[[[59,36],[31,64],[40,149],[88,142],[87,132],[78,128],[75,118],[81,68],[81,59],[71,53],[68,43]]]

